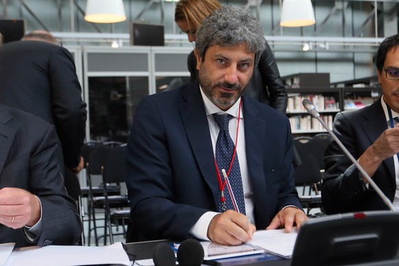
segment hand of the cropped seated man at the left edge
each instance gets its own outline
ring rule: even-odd
[[[10,228],[34,226],[40,219],[40,202],[23,189],[0,189],[0,223]]]

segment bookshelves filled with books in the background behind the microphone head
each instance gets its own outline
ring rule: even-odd
[[[324,86],[310,86],[291,88],[287,86],[287,93],[289,96],[287,106],[287,117],[291,122],[291,131],[294,135],[309,135],[320,132],[326,132],[322,125],[311,117],[311,114],[306,112],[302,106],[302,100],[310,99],[315,104],[320,117],[324,119],[329,128],[333,127],[333,120],[337,112],[342,110],[350,110],[353,108],[361,108],[372,104],[378,99],[381,90],[378,87],[378,80],[376,77],[370,77],[361,80],[350,80],[347,82],[337,82],[326,86],[326,80],[329,77],[322,73],[321,75],[305,73],[307,75],[298,74],[282,77],[283,82],[287,84],[293,82],[295,84],[302,84],[300,79],[305,77],[305,84],[308,86],[309,81],[312,80],[317,84],[317,81],[322,81]],[[298,76],[298,77],[297,77]],[[295,87],[296,85],[294,85]]]

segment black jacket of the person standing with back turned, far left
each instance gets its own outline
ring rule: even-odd
[[[66,49],[40,41],[3,45],[0,104],[30,112],[56,125],[68,168],[78,165],[84,142],[86,104],[81,93],[73,58]]]

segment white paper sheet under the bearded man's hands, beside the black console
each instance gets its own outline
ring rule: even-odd
[[[248,244],[261,247],[271,254],[291,258],[297,236],[298,230],[296,228],[293,228],[289,233],[285,232],[285,229],[260,230],[254,233]]]

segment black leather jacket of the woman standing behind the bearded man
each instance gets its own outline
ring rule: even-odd
[[[197,58],[191,51],[187,58],[187,66],[191,73],[191,82],[197,79]],[[263,51],[258,66],[254,68],[252,79],[245,89],[245,95],[257,99],[285,114],[287,110],[287,91],[282,84],[280,71],[269,45]]]

